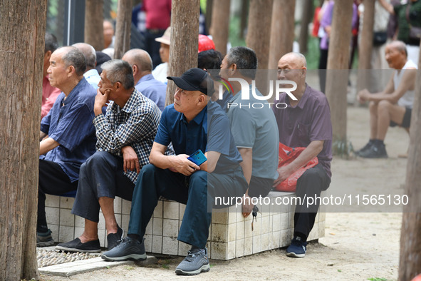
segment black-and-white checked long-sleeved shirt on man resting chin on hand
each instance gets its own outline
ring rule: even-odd
[[[149,164],[150,150],[157,134],[161,111],[149,98],[136,89],[123,108],[110,101],[105,116],[93,120],[96,129],[96,149],[122,157],[121,148],[130,145],[139,158],[140,168]],[[124,173],[136,183],[136,171]]]

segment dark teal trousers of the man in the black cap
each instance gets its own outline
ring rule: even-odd
[[[147,223],[160,196],[186,204],[177,240],[204,248],[209,236],[209,225],[215,196],[244,195],[247,182],[241,168],[226,170],[224,174],[202,170],[189,177],[154,165],[145,165],[140,171],[133,192],[128,234],[145,235]]]

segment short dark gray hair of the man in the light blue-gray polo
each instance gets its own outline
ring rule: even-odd
[[[235,63],[241,75],[254,79],[257,69],[256,52],[251,48],[238,46],[230,48],[227,53],[227,63],[232,65]]]

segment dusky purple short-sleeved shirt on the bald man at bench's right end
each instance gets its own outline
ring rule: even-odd
[[[277,103],[286,103],[288,107],[276,108]],[[291,148],[307,147],[312,141],[324,141],[317,158],[330,178],[332,123],[326,96],[306,85],[306,91],[295,107],[290,106],[286,93],[281,93],[272,108],[278,121],[279,141],[284,145]]]

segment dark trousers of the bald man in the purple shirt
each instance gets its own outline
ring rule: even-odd
[[[331,184],[331,178],[328,177],[326,171],[321,164],[317,164],[313,168],[306,170],[297,180],[296,195],[303,200],[304,197],[315,198],[320,196],[323,190],[328,189]],[[307,201],[306,201],[307,202]],[[318,202],[309,208],[306,208],[306,202],[303,205],[296,206],[296,213],[293,216],[294,233],[300,233],[308,237],[314,225],[318,211]]]

